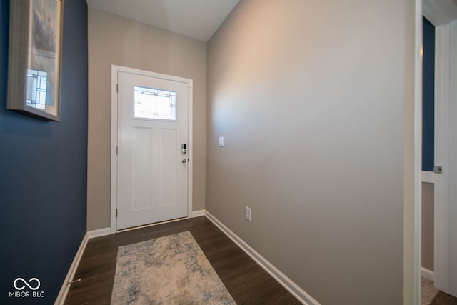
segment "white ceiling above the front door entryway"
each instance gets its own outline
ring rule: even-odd
[[[209,41],[239,0],[87,0],[89,7]]]

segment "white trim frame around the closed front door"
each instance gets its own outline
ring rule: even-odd
[[[139,69],[128,68],[126,66],[116,66],[111,65],[111,225],[110,232],[111,234],[116,233],[117,231],[117,217],[116,217],[116,208],[117,208],[117,146],[118,146],[118,94],[117,94],[117,76],[119,72],[126,72],[130,74],[140,74],[143,76],[156,77],[158,79],[166,79],[168,81],[179,81],[181,83],[188,84],[188,116],[189,116],[189,143],[187,146],[187,154],[189,162],[187,164],[187,217],[192,216],[192,166],[193,162],[193,136],[192,136],[192,114],[193,114],[193,101],[192,101],[192,91],[193,91],[193,81],[192,79],[185,79],[179,76],[171,76],[166,74],[159,74],[150,71],[144,71]]]

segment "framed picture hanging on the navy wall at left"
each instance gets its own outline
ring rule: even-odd
[[[10,6],[7,108],[60,121],[64,0]]]

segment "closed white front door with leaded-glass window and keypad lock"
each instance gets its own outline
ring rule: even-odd
[[[186,217],[189,84],[117,76],[117,229]]]

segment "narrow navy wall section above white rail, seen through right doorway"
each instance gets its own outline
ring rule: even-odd
[[[423,18],[422,170],[433,171],[435,156],[435,26]]]

